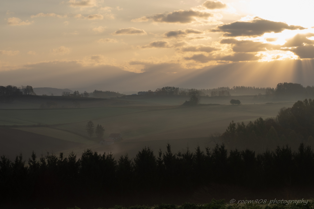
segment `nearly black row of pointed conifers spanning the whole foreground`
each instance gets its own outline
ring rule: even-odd
[[[300,144],[296,152],[289,146],[255,153],[250,149],[228,151],[225,146],[213,149],[173,153],[167,149],[154,153],[143,148],[133,159],[128,155],[114,159],[111,153],[85,150],[77,159],[60,153],[47,153],[37,159],[33,152],[28,165],[22,154],[11,162],[0,160],[0,202],[25,203],[58,199],[102,200],[122,196],[185,191],[212,183],[241,185],[251,189],[301,186],[312,188],[314,153]],[[0,204],[1,204],[0,203]]]

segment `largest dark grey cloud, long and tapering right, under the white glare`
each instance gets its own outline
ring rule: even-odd
[[[236,36],[262,36],[265,33],[280,33],[283,30],[303,30],[305,28],[297,25],[288,25],[283,22],[274,22],[265,20],[259,17],[255,17],[250,21],[236,21],[230,24],[219,25],[215,29],[211,29],[211,32],[224,33],[225,37]]]

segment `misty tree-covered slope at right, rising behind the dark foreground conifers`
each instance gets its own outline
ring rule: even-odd
[[[281,108],[276,118],[258,118],[248,124],[232,121],[221,139],[231,149],[265,151],[286,144],[296,149],[302,142],[314,146],[313,115],[314,101],[305,99]]]

